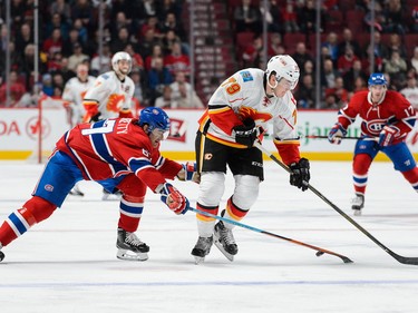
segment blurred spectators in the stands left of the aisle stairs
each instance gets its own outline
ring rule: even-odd
[[[98,76],[111,70],[111,56],[117,51],[132,56],[130,77],[135,82],[137,105],[154,106],[165,89],[173,88],[171,94],[176,107],[203,106],[200,99],[183,99],[191,97],[184,92],[191,86],[187,81],[188,39],[182,23],[182,0],[39,1],[38,79],[33,72],[33,0],[10,1],[9,45],[4,2],[0,2],[0,106],[6,104],[7,84],[10,85],[11,106],[36,106],[36,95],[40,92],[59,99],[66,82],[76,76],[78,63],[88,65],[89,74]],[[103,32],[99,32],[100,12]],[[8,49],[11,68],[7,82]]]

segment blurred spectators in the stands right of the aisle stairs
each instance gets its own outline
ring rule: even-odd
[[[264,68],[263,0],[229,0],[237,59]],[[320,105],[317,105],[317,1],[268,0],[268,59],[289,53],[301,68],[300,108],[340,108],[367,88],[370,68],[418,108],[418,1],[323,0],[320,6]],[[375,22],[371,13],[375,12]],[[375,31],[371,46],[370,31]],[[371,53],[375,65],[370,67]]]

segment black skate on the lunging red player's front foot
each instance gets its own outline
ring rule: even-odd
[[[117,229],[116,242],[117,258],[127,261],[146,261],[148,260],[149,246],[143,243],[134,233]]]

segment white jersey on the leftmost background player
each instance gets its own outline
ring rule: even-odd
[[[82,99],[89,88],[95,84],[96,77],[88,76],[86,81],[81,81],[78,77],[70,78],[62,92],[62,99],[70,102],[71,107],[71,123],[76,125],[81,123],[86,110],[82,106]]]

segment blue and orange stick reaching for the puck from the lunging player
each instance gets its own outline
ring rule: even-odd
[[[233,225],[236,225],[236,226],[240,226],[240,227],[243,227],[243,228],[256,232],[256,233],[265,234],[265,235],[269,235],[269,236],[272,236],[272,237],[275,237],[275,238],[280,238],[280,239],[283,239],[283,241],[291,242],[292,244],[297,244],[297,245],[301,245],[301,246],[305,246],[305,247],[312,248],[314,251],[318,251],[317,252],[317,256],[321,256],[322,254],[327,253],[327,254],[331,254],[331,255],[340,257],[344,263],[353,263],[347,256],[338,254],[338,253],[334,253],[332,251],[329,251],[329,250],[325,250],[325,248],[322,248],[322,247],[318,247],[318,246],[305,244],[305,243],[302,243],[302,242],[299,242],[299,241],[295,241],[295,239],[286,238],[284,236],[276,235],[276,234],[263,231],[263,229],[259,229],[259,228],[255,228],[253,226],[245,225],[245,224],[242,224],[240,222],[236,222],[236,221],[233,221],[233,219],[229,219],[229,218],[225,218],[225,217],[222,217],[222,216],[217,216],[217,215],[214,215],[212,213],[204,212],[204,211],[201,211],[201,209],[197,209],[197,208],[194,208],[194,207],[189,207],[188,209],[193,211],[195,213],[202,214],[202,215],[206,215],[208,217],[213,217],[213,218],[220,219],[220,221],[225,222],[225,223],[230,223],[230,224],[233,224]]]

